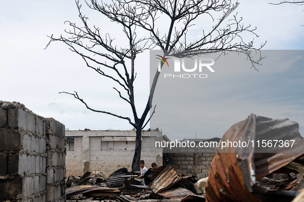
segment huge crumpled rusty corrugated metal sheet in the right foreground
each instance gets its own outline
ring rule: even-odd
[[[260,201],[252,194],[256,179],[288,165],[304,153],[304,140],[296,122],[256,117],[254,114],[232,126],[221,141],[247,143],[257,139],[296,141],[293,148],[277,147],[266,151],[252,145],[218,148],[209,170],[206,201]],[[256,153],[259,151],[272,153]]]

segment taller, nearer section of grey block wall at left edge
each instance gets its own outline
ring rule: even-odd
[[[47,192],[48,128],[47,119],[24,105],[0,100],[0,201],[52,201]]]

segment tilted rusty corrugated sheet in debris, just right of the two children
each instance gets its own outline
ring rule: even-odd
[[[168,190],[178,181],[180,181],[182,177],[177,175],[172,166],[168,165],[155,179],[152,183],[149,184],[149,188],[154,193],[160,193]]]

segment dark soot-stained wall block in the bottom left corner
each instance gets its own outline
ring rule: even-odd
[[[0,200],[22,199],[23,179],[21,177],[0,179],[0,193]]]

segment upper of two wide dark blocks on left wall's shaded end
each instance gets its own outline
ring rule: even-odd
[[[18,131],[0,131],[0,151],[19,151],[21,147],[21,135]]]

